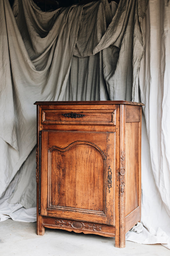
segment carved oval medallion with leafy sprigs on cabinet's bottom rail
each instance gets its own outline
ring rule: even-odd
[[[81,230],[101,231],[101,226],[97,224],[84,223],[82,221],[55,220],[55,225],[59,227],[70,227]]]

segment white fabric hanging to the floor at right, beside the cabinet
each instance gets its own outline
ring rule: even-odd
[[[139,90],[141,101],[145,104],[142,134],[142,223],[147,229],[137,240],[151,244],[154,241],[170,249],[168,0],[149,1],[143,31],[146,43],[139,71]]]

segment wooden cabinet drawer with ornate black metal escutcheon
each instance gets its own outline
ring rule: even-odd
[[[114,110],[42,110],[42,124],[116,125]]]

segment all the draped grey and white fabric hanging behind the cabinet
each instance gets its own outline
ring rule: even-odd
[[[147,5],[100,0],[42,12],[32,0],[15,0],[12,11],[0,0],[1,221],[36,221],[35,101],[140,95],[145,228],[138,223],[126,239],[170,249],[170,6]]]

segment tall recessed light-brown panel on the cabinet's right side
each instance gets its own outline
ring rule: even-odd
[[[125,216],[139,206],[139,124],[125,125]]]

